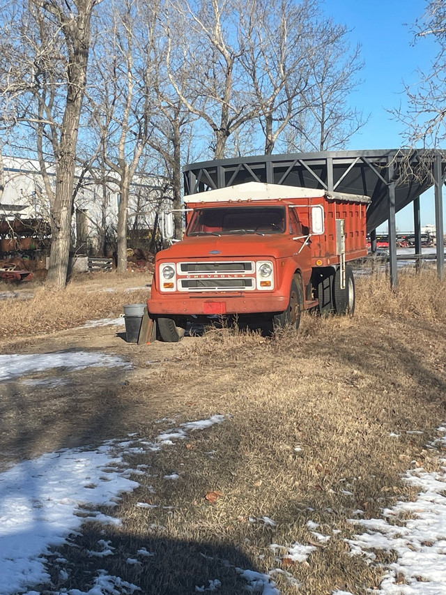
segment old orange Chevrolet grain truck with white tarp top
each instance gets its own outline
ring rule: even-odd
[[[353,314],[346,263],[367,255],[368,197],[249,182],[184,200],[185,236],[157,253],[148,300],[162,340],[215,316],[273,329],[297,327],[302,310]]]

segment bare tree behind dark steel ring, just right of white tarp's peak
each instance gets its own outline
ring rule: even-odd
[[[302,110],[308,59],[321,46],[318,15],[318,0],[249,0],[240,9],[241,61],[259,106],[266,155]]]

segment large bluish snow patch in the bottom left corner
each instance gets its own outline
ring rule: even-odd
[[[77,532],[89,507],[99,522],[117,519],[95,511],[112,497],[130,492],[139,484],[121,476],[120,470],[100,481],[102,468],[121,458],[110,449],[73,449],[24,461],[0,474],[0,576],[2,595],[13,595],[27,585],[47,582],[45,556],[48,546],[61,545]],[[116,502],[112,502],[116,504]]]

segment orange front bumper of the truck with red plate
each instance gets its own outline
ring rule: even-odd
[[[211,314],[251,314],[255,312],[283,312],[289,306],[289,295],[254,294],[194,294],[153,296],[147,301],[151,314],[199,316]]]

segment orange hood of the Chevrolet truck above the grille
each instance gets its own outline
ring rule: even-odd
[[[158,260],[275,257],[283,258],[298,251],[300,243],[285,234],[247,234],[244,236],[193,236],[174,243],[157,253]]]

